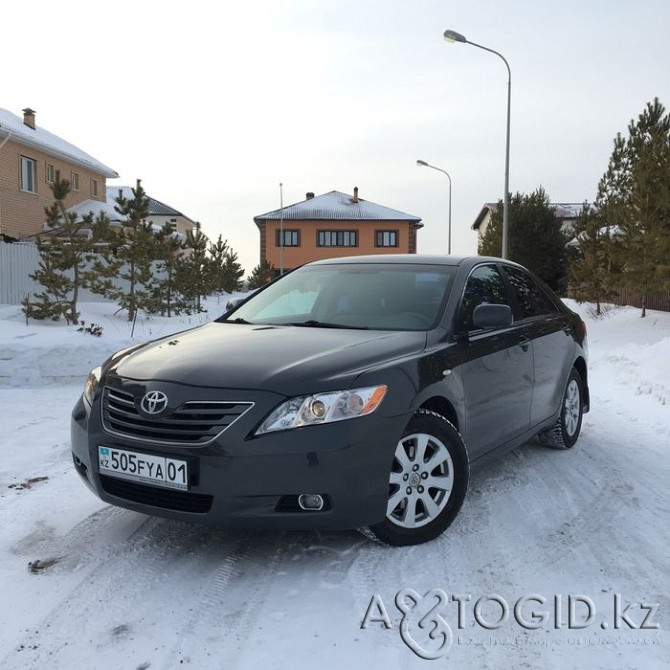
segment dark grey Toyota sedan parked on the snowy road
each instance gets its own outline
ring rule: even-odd
[[[588,411],[586,329],[498,258],[304,265],[216,321],[111,356],[72,414],[102,500],[227,526],[442,533],[470,467]]]

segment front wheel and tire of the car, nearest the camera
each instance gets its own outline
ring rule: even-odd
[[[363,534],[391,546],[433,540],[461,509],[469,475],[458,431],[440,414],[419,410],[393,454],[386,518]]]

